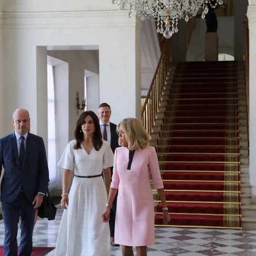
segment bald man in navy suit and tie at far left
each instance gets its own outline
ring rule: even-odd
[[[28,111],[16,109],[12,124],[15,131],[0,138],[0,169],[4,167],[0,187],[5,231],[4,256],[18,255],[19,218],[19,256],[30,256],[35,209],[41,205],[47,191],[49,170],[43,139],[28,132]]]

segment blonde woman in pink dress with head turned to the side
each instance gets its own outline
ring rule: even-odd
[[[141,122],[126,118],[117,125],[119,145],[115,151],[113,177],[108,202],[102,214],[109,221],[109,211],[118,190],[115,242],[122,245],[123,256],[147,256],[147,245],[154,244],[154,188],[162,202],[163,223],[170,221],[158,158],[154,147],[148,146],[149,136]]]

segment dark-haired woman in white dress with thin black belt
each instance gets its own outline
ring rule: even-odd
[[[64,168],[60,201],[64,213],[55,256],[111,256],[109,223],[102,222],[101,213],[110,187],[113,152],[102,140],[93,111],[79,116],[75,140],[68,143],[58,166]],[[75,177],[68,193],[72,170]]]

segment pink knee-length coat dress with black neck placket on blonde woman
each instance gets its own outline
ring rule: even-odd
[[[129,150],[115,151],[113,177],[110,187],[118,189],[115,223],[115,243],[127,246],[154,244],[154,188],[163,188],[158,158],[154,147],[136,150],[128,170]]]

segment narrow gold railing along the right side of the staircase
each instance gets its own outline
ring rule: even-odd
[[[248,18],[244,21],[244,61],[245,61],[245,82],[247,99],[247,117],[249,124],[249,28]]]

